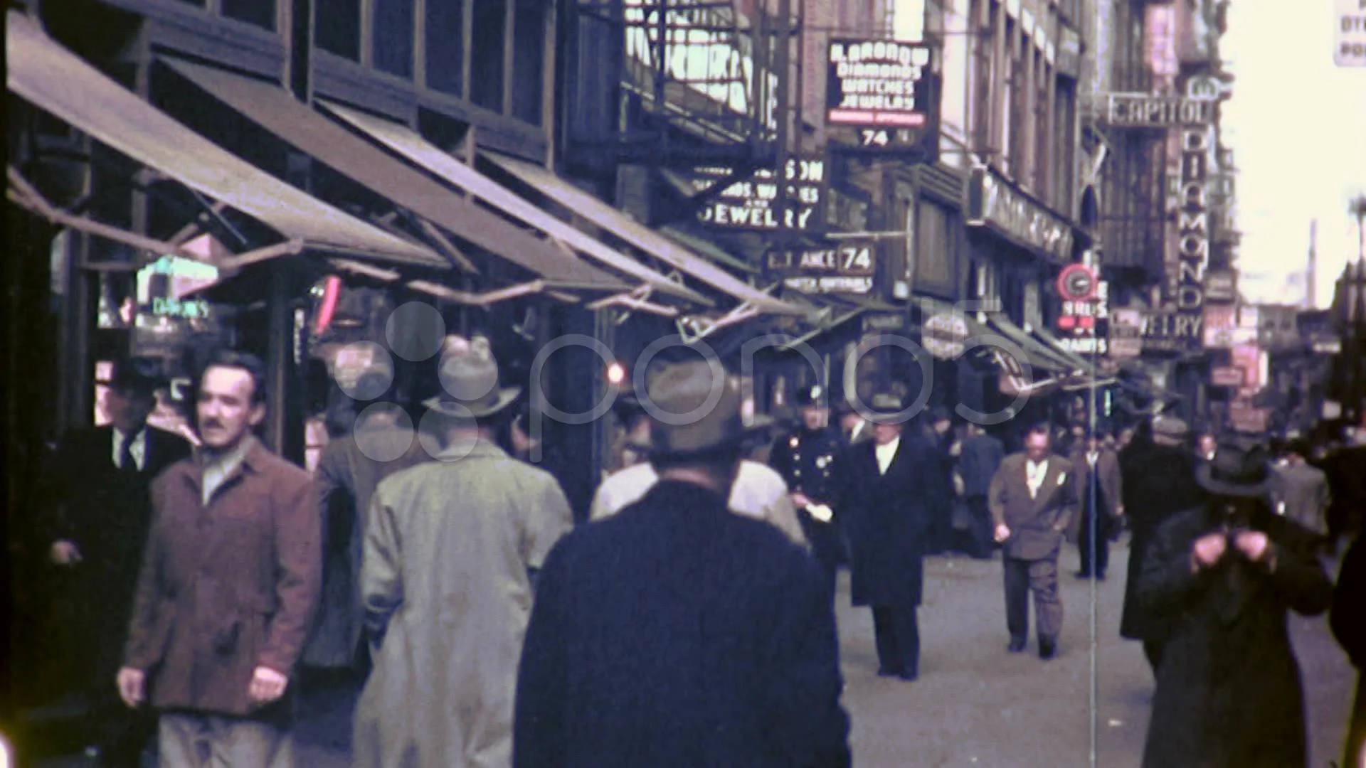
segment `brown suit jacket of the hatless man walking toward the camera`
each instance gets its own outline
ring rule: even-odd
[[[1072,462],[1059,455],[1048,458],[1048,471],[1038,496],[1029,495],[1027,458],[1011,454],[992,478],[988,507],[996,525],[1005,523],[1005,556],[1019,560],[1057,558],[1067,526],[1076,514],[1076,480]]]

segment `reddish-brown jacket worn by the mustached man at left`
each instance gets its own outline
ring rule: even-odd
[[[153,707],[255,715],[253,671],[292,672],[318,603],[318,495],[260,443],[208,506],[202,477],[186,459],[152,485],[124,664],[149,671]]]

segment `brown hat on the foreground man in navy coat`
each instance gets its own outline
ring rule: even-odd
[[[705,456],[743,448],[773,420],[746,414],[739,381],[719,362],[688,361],[661,366],[645,387],[641,404],[650,414],[650,455]]]

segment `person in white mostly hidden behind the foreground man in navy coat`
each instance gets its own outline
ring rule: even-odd
[[[772,420],[751,417],[755,435],[769,429]],[[653,445],[654,420],[641,420],[632,425],[630,440],[635,451],[649,455]],[[609,474],[593,495],[589,519],[609,518],[639,502],[654,488],[660,476],[649,461],[638,462]],[[740,467],[731,486],[729,508],[732,512],[768,521],[787,534],[795,544],[809,545],[802,522],[796,517],[787,482],[775,469],[750,459],[740,459]]]

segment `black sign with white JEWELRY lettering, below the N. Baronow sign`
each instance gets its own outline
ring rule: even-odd
[[[734,176],[734,169],[709,165],[697,168],[694,191]],[[779,210],[777,174],[761,168],[746,180],[735,182],[710,198],[697,212],[703,224],[731,230],[810,230],[820,221],[825,198],[825,159],[803,157],[787,163],[787,206]]]

